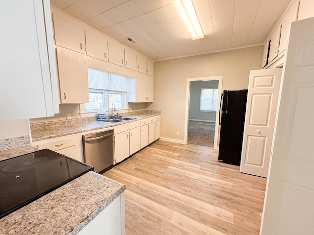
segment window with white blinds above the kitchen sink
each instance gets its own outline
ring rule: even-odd
[[[110,110],[127,109],[128,78],[120,74],[88,68],[89,103],[85,112],[96,112],[99,108]]]

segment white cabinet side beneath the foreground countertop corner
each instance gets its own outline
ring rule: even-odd
[[[78,235],[91,234],[126,234],[124,192],[78,232]]]

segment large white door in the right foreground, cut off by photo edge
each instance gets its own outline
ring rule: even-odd
[[[314,234],[313,25],[291,24],[261,235]]]

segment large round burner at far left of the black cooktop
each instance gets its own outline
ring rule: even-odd
[[[46,161],[47,161],[46,157],[33,158],[30,156],[26,159],[17,160],[13,163],[3,166],[2,172],[11,173],[11,172],[20,172],[24,170],[29,170],[38,165],[43,164]]]

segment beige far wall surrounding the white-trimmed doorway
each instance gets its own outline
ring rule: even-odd
[[[223,90],[248,88],[250,70],[261,69],[263,46],[154,63],[154,103],[161,111],[161,137],[183,141],[186,79],[223,76]],[[179,136],[176,132],[179,131]]]

